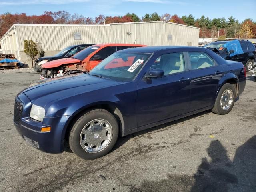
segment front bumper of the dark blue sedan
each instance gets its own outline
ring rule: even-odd
[[[27,143],[43,152],[63,152],[66,126],[71,116],[45,117],[43,122],[39,122],[30,118],[31,106],[32,103],[23,92],[18,94],[14,106],[14,125],[18,133]],[[50,131],[41,132],[42,128],[49,126]]]

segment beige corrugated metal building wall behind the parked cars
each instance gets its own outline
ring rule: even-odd
[[[127,34],[129,32],[129,34]],[[81,33],[81,40],[74,39]],[[172,40],[168,40],[171,35]],[[9,38],[10,41],[9,42]],[[170,22],[137,22],[108,25],[14,25],[0,42],[4,53],[14,53],[22,62],[29,61],[23,52],[24,40],[41,44],[46,56],[74,44],[136,43],[148,46],[198,46],[199,28]]]

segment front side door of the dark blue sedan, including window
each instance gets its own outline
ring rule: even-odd
[[[138,82],[138,130],[188,112],[191,81],[185,66],[182,52],[163,54],[152,62],[150,69],[161,68],[164,76]]]

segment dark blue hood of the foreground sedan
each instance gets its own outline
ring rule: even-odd
[[[115,84],[120,84],[120,82],[80,73],[36,82],[23,92],[33,104],[42,105],[42,103],[47,104],[60,98],[95,91]]]

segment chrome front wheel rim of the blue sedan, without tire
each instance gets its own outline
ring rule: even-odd
[[[104,119],[90,121],[80,134],[80,145],[89,153],[100,152],[112,139],[112,126]]]

